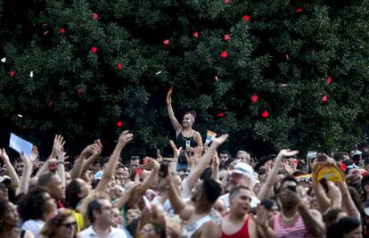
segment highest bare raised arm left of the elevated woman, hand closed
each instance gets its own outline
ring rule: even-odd
[[[111,181],[111,177],[114,174],[114,169],[118,164],[120,153],[126,144],[132,141],[133,136],[134,135],[129,133],[127,130],[123,131],[122,134],[119,135],[118,143],[111,154],[111,159],[108,161],[106,168],[103,170],[102,180],[100,180],[99,184],[97,185],[95,189],[96,192],[103,192]]]

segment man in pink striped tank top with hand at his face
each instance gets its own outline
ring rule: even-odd
[[[276,191],[281,212],[269,221],[276,237],[320,237],[325,234],[322,215],[316,209],[307,209],[297,193],[298,181],[285,176]]]

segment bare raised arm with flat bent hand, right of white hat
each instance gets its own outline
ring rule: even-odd
[[[274,183],[274,179],[278,174],[278,169],[281,167],[282,159],[285,157],[294,156],[298,153],[298,151],[290,151],[290,150],[281,150],[277,157],[275,158],[275,164],[273,165],[272,170],[270,170],[269,174],[266,177],[266,183],[261,187],[260,192],[258,193],[258,200],[263,201],[269,198],[270,194],[273,192],[272,187]]]

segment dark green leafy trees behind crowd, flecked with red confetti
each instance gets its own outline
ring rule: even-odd
[[[363,138],[367,1],[0,4],[4,138],[47,151],[61,133],[78,152],[101,137],[107,152],[127,128],[131,153],[163,148],[170,86],[176,117],[197,111],[201,135],[228,132],[233,151],[346,150]]]

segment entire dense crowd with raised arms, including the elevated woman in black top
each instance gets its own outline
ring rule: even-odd
[[[196,113],[180,123],[170,97],[167,104],[176,130],[170,158],[158,152],[124,162],[135,140],[129,131],[110,157],[100,156],[96,140],[70,160],[61,135],[45,161],[37,147],[19,158],[2,149],[0,238],[369,237],[369,148],[232,157],[219,148],[228,135],[203,144]],[[317,183],[323,167],[341,169],[342,179]]]

